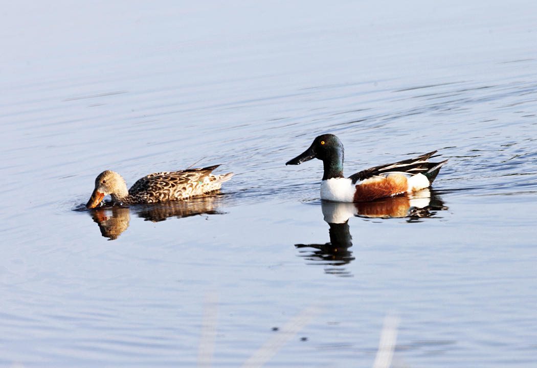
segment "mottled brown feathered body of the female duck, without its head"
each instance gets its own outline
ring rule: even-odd
[[[184,200],[213,192],[233,175],[211,174],[218,166],[149,174],[134,183],[129,189],[129,196],[138,203],[156,203]]]

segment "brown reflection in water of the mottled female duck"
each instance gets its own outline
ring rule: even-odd
[[[111,207],[105,204],[103,207],[91,209],[90,215],[93,221],[99,225],[99,230],[103,237],[114,240],[129,227],[131,213],[152,222],[164,221],[169,217],[183,218],[195,215],[223,214],[224,212],[217,210],[221,197],[221,195],[215,194],[192,198],[187,201],[135,205],[132,207]]]

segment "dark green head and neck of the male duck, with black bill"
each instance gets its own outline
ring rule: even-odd
[[[320,159],[324,164],[323,180],[332,178],[343,178],[343,144],[339,138],[333,134],[323,134],[316,137],[309,148],[287,161],[286,165],[300,165],[311,159]]]

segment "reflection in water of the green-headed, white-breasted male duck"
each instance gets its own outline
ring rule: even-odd
[[[299,256],[311,263],[325,266],[326,274],[352,277],[344,266],[355,259],[349,250],[352,236],[349,227],[350,217],[365,218],[407,218],[407,222],[420,222],[427,217],[436,217],[438,211],[448,208],[434,190],[423,189],[412,195],[382,198],[364,203],[321,202],[321,210],[326,223],[330,241],[324,244],[295,244]],[[313,248],[314,251],[302,250]]]

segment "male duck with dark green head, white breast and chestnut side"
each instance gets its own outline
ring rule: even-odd
[[[367,202],[377,198],[414,192],[431,186],[440,167],[427,161],[437,151],[422,156],[368,168],[349,178],[343,176],[343,144],[333,134],[323,134],[314,139],[311,146],[286,165],[299,165],[317,158],[323,160],[324,175],[321,182],[321,198],[335,202]]]

